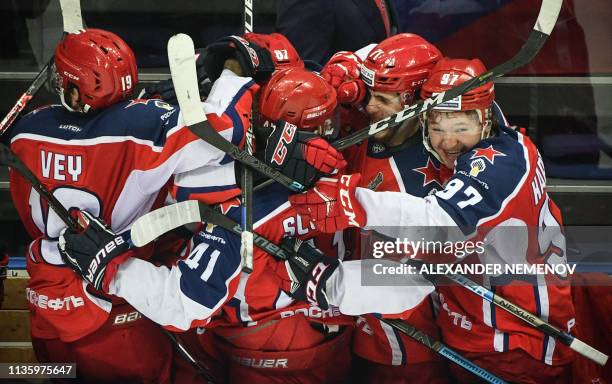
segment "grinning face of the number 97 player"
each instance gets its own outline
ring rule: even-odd
[[[481,140],[482,125],[478,115],[465,112],[433,112],[427,118],[431,147],[449,169],[462,153]]]

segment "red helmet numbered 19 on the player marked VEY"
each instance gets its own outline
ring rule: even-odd
[[[84,112],[127,99],[138,83],[132,49],[119,36],[101,29],[69,34],[55,49],[55,68],[62,104],[70,84],[79,90]]]

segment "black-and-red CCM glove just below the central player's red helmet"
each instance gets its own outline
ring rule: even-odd
[[[279,120],[266,142],[266,162],[299,183],[311,186],[324,174],[342,170],[346,161],[325,139]]]

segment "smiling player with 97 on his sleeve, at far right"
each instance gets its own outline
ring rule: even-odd
[[[446,91],[484,72],[479,60],[441,60],[423,85],[422,97]],[[423,198],[319,182],[315,187],[319,194],[296,195],[292,205],[303,216],[311,217],[318,229],[337,230],[351,225],[339,209],[341,203],[329,206],[338,200],[337,191],[343,190],[344,195],[354,196],[359,202],[353,206],[355,211],[365,212],[365,228],[388,236],[414,236],[411,228],[419,226],[453,227],[463,234],[459,239],[484,241],[484,252],[470,256],[480,263],[565,263],[561,215],[547,194],[542,159],[529,138],[494,124],[493,98],[493,85],[485,84],[423,116],[425,146],[454,169],[444,190]],[[327,202],[319,197],[323,188]],[[322,215],[326,207],[331,211]],[[504,283],[504,279],[524,278],[527,284]],[[496,293],[571,331],[575,320],[566,276],[502,275],[485,279]],[[437,322],[449,346],[512,382],[567,382],[573,358],[567,347],[460,287],[440,286],[438,290],[443,309]],[[457,316],[466,321],[456,321]],[[457,381],[473,382],[464,372],[451,368]]]

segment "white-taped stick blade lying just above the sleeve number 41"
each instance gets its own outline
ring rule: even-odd
[[[166,232],[202,221],[196,200],[167,205],[139,217],[130,231],[132,244],[142,247]]]

